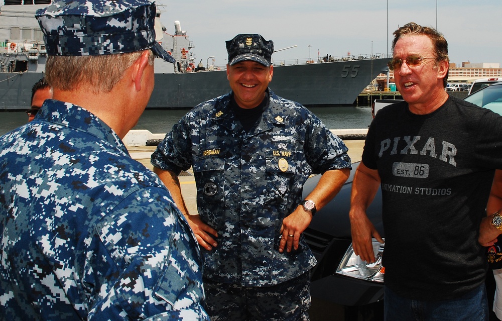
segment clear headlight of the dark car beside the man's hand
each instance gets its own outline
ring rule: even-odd
[[[385,243],[379,243],[376,239],[372,239],[371,244],[373,245],[373,252],[376,253],[374,263],[367,264],[362,261],[358,255],[355,255],[352,244],[350,244],[340,265],[336,269],[336,273],[357,279],[384,283],[385,267],[382,266],[382,255],[384,254]]]

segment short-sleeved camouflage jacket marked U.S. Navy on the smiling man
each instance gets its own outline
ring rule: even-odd
[[[311,173],[351,166],[347,147],[302,105],[270,89],[260,123],[246,133],[232,114],[231,94],[185,115],[152,164],[174,172],[193,166],[199,215],[218,232],[218,246],[202,250],[205,277],[282,283],[316,263],[303,235],[297,251],[279,252],[282,220],[298,206]]]

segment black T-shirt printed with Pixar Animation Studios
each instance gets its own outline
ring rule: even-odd
[[[406,102],[387,106],[371,123],[362,162],[381,178],[386,286],[440,300],[480,285],[486,258],[477,237],[502,168],[502,117],[454,97],[428,115]]]

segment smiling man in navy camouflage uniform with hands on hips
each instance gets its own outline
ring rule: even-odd
[[[173,127],[152,155],[154,171],[205,249],[212,320],[307,320],[316,260],[302,232],[347,179],[347,147],[268,87],[272,41],[237,35],[226,47],[231,92],[199,104]],[[177,178],[190,166],[198,213],[188,212]],[[323,175],[302,200],[311,173]]]

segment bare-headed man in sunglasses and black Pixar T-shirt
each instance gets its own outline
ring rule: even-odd
[[[380,186],[385,319],[488,320],[478,236],[502,168],[502,117],[445,91],[441,33],[409,23],[394,35],[389,68],[405,101],[380,110],[369,128],[352,187],[354,251],[373,262],[371,237],[383,241],[366,216]]]

